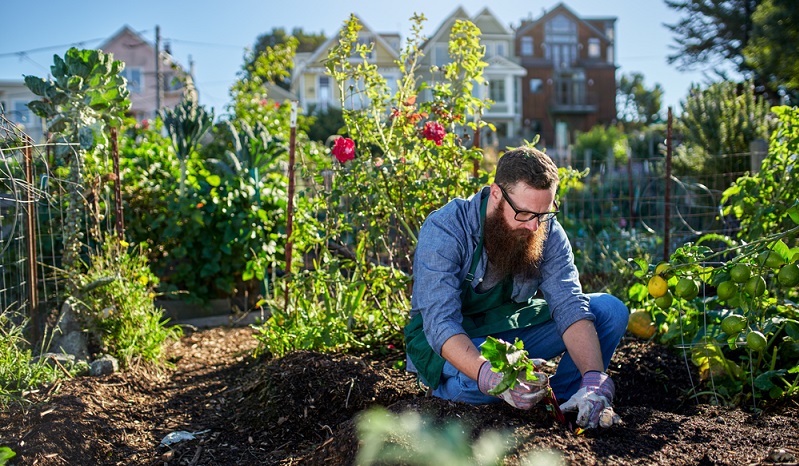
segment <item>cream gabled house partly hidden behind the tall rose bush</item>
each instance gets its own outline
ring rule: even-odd
[[[366,57],[371,64],[377,65],[380,74],[386,78],[390,92],[397,91],[397,80],[400,78],[400,70],[396,64],[399,59],[399,35],[397,34],[378,34],[374,32],[366,23],[355,15],[362,28],[358,32],[358,42],[360,44],[373,44],[371,53]],[[340,108],[340,92],[338,85],[333,77],[328,74],[325,61],[328,53],[339,41],[336,34],[310,53],[298,53],[294,60],[294,72],[292,73],[291,92],[299,99],[299,105],[305,113],[313,113],[315,110],[327,110],[328,108]],[[353,57],[353,60],[361,61],[361,57]],[[365,96],[348,95],[345,96],[348,108],[359,109],[365,107],[368,102]]]

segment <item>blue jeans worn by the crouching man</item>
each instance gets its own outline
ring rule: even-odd
[[[599,346],[602,349],[602,360],[607,370],[610,358],[616,347],[627,331],[627,320],[630,311],[618,298],[604,293],[592,293],[589,311],[596,320]],[[555,322],[550,320],[541,325],[524,329],[514,329],[493,335],[496,338],[513,343],[516,338],[524,342],[524,349],[532,358],[552,359],[563,354],[558,364],[555,375],[550,377],[549,384],[559,400],[571,398],[580,389],[582,375],[574,365],[566,351],[563,339],[555,329]],[[485,337],[472,338],[472,342],[479,348]],[[564,354],[565,353],[565,354]],[[472,380],[447,362],[441,374],[441,384],[433,391],[433,396],[445,400],[462,401],[470,404],[488,404],[502,401],[500,398],[485,395],[477,388],[477,381]]]

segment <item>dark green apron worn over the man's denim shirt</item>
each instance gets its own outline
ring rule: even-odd
[[[485,224],[488,196],[480,206],[482,224]],[[471,268],[461,283],[461,313],[463,329],[469,338],[495,335],[506,330],[532,327],[550,319],[549,307],[543,299],[529,299],[517,303],[513,296],[513,278],[506,277],[485,293],[478,293],[472,287],[474,272],[483,254],[483,234],[481,225],[480,242],[474,251]],[[511,342],[512,343],[512,342]],[[441,371],[446,360],[438,355],[427,342],[422,329],[422,314],[416,314],[405,326],[405,351],[416,366],[416,370],[428,387],[438,388]]]

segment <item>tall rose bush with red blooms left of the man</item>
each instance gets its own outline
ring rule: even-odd
[[[467,115],[486,105],[471,94],[473,83],[483,82],[485,66],[478,31],[468,22],[453,27],[453,60],[432,84],[432,100],[417,103],[423,21],[414,17],[414,36],[396,61],[402,75],[393,95],[366,58],[374,44],[359,42],[361,25],[354,16],[329,53],[327,68],[339,87],[349,136],[336,146],[345,162],[330,153],[308,154],[301,162],[305,186],[297,216],[302,221],[295,222],[292,241],[314,266],[289,271],[288,303],[271,303],[275,314],[262,332],[265,344],[277,348],[272,352],[287,350],[281,341],[315,345],[326,335],[334,337],[326,346],[345,349],[355,335],[366,337],[359,334],[365,328],[372,339],[400,340],[421,223],[433,209],[487,181],[485,173],[477,178],[471,173],[479,149],[458,137],[458,131],[475,128],[465,124]],[[425,123],[440,129],[428,125],[425,132]],[[342,316],[345,321],[331,322]]]

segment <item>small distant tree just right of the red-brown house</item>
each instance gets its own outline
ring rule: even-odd
[[[652,89],[644,87],[644,75],[641,73],[622,75],[616,101],[619,119],[625,126],[639,129],[661,120],[663,88],[657,83]]]

